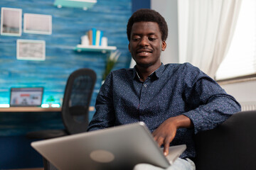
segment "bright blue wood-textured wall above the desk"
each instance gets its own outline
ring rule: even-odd
[[[99,0],[87,11],[82,8],[57,8],[54,0],[1,0],[0,7],[21,8],[23,13],[52,15],[52,35],[22,33],[21,37],[0,36],[0,104],[9,103],[11,87],[43,86],[43,103],[49,96],[62,103],[68,76],[75,69],[87,67],[97,73],[92,106],[100,89],[102,73],[108,54],[75,52],[80,37],[90,28],[102,30],[110,46],[122,52],[114,69],[129,67],[131,56],[127,49],[126,25],[131,16],[131,0]],[[46,60],[16,60],[16,40],[45,40]]]

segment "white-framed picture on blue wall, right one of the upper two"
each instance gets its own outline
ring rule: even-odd
[[[34,13],[24,13],[24,33],[48,34],[52,33],[52,16]]]

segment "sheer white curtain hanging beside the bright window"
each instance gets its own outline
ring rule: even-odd
[[[210,77],[230,46],[242,0],[178,0],[179,62]]]

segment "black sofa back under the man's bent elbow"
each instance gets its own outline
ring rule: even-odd
[[[195,140],[196,170],[256,169],[256,111],[235,113]]]

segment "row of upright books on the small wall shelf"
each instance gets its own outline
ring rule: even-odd
[[[101,30],[97,30],[96,28],[92,28],[87,31],[87,36],[89,39],[89,45],[100,46],[102,44],[102,36],[103,32]]]

